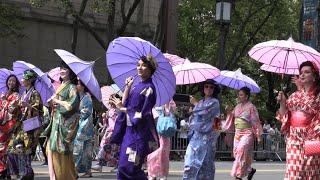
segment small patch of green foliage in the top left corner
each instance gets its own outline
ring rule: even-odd
[[[21,11],[10,4],[0,3],[0,37],[21,37]]]

